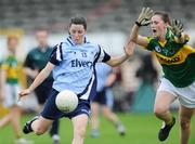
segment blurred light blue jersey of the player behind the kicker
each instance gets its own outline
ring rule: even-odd
[[[95,70],[96,70],[96,78],[98,78],[96,91],[100,92],[103,89],[105,89],[107,77],[112,73],[112,67],[104,63],[98,63],[95,65]]]

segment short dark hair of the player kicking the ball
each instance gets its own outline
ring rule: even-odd
[[[70,22],[69,22],[69,27],[72,26],[72,24],[82,25],[84,27],[84,29],[87,30],[87,21],[82,16],[72,17]]]

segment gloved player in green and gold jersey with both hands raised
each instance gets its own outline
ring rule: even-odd
[[[152,37],[139,35],[142,26],[151,24]],[[183,34],[181,22],[170,22],[165,12],[153,12],[143,8],[136,19],[130,39],[152,51],[160,63],[164,77],[158,88],[154,113],[164,121],[158,133],[159,141],[165,141],[176,118],[169,112],[170,104],[180,101],[181,144],[187,144],[191,131],[191,118],[195,108],[195,49],[186,44],[188,36]]]

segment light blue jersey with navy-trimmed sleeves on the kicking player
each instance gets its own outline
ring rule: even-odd
[[[65,42],[54,47],[50,62],[53,69],[53,89],[72,90],[82,100],[90,100],[96,91],[94,65],[107,62],[110,56],[99,45],[84,39],[83,44],[76,44],[68,37]]]

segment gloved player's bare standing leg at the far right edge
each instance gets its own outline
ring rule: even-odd
[[[180,144],[188,144],[188,139],[191,134],[191,118],[193,116],[194,109],[180,106]]]

